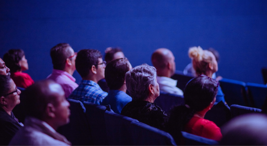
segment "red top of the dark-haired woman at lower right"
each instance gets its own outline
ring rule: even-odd
[[[186,124],[184,131],[216,141],[222,139],[221,129],[215,123],[196,116]]]

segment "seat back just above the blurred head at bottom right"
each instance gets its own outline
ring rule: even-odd
[[[242,115],[242,114],[262,112],[261,109],[244,107],[244,106],[239,106],[239,105],[231,105],[230,110],[231,110],[232,118]]]

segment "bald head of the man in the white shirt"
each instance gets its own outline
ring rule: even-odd
[[[157,49],[151,57],[151,61],[153,66],[157,69],[157,73],[159,76],[167,76],[170,77],[170,75],[161,75],[161,72],[170,70],[169,74],[173,74],[175,71],[175,62],[174,62],[174,56],[172,54],[172,51],[166,48],[159,48]]]

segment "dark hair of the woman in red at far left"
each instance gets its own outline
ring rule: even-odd
[[[5,65],[10,69],[11,73],[15,73],[21,70],[19,61],[24,56],[24,51],[22,49],[10,49],[3,56],[3,61]]]

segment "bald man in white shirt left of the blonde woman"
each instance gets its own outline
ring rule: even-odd
[[[177,80],[171,78],[175,73],[174,59],[172,52],[166,48],[157,49],[151,57],[152,64],[157,70],[159,90],[166,93],[183,95],[183,91],[176,87]]]

